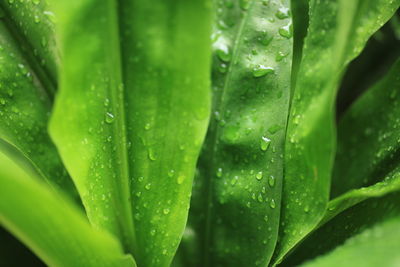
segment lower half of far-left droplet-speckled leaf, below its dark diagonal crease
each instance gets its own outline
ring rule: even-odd
[[[15,35],[15,25],[0,5],[0,140],[18,149],[57,190],[76,191],[47,134],[51,92]],[[40,72],[40,71],[39,71]]]

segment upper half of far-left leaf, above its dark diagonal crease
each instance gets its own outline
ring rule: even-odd
[[[54,14],[47,0],[1,1],[2,20],[50,97],[56,89],[58,51],[54,33]]]

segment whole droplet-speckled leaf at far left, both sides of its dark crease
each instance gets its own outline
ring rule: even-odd
[[[27,9],[31,10],[29,14]],[[48,66],[50,69],[55,64],[49,52],[52,35],[43,32],[41,38],[46,43],[39,46],[37,56],[33,52],[36,50],[26,41],[25,34],[42,32],[43,27],[50,27],[45,21],[33,21],[34,17],[45,20],[43,11],[42,6],[32,2],[1,1],[0,139],[21,151],[54,187],[76,196],[72,182],[47,134],[55,84],[43,68]],[[22,13],[26,15],[22,16]],[[37,39],[38,36],[32,38]],[[53,63],[48,65],[50,61]]]

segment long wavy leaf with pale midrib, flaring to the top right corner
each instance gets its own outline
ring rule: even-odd
[[[285,145],[279,263],[321,220],[335,150],[334,100],[347,64],[400,1],[311,1]],[[379,19],[377,19],[379,18]]]

